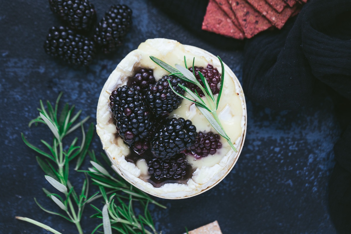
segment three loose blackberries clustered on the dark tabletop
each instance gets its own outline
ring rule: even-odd
[[[114,5],[105,13],[90,39],[84,35],[96,23],[93,4],[88,0],[49,0],[49,5],[66,26],[49,30],[45,52],[72,65],[88,66],[97,50],[107,54],[117,49],[132,23],[132,10],[126,5]]]

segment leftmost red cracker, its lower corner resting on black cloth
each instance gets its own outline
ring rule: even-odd
[[[235,39],[244,39],[244,34],[233,24],[232,20],[219,8],[214,0],[208,2],[202,29]]]

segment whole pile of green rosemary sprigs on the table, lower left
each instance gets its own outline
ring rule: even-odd
[[[34,198],[35,202],[45,212],[61,216],[62,218],[65,218],[66,220],[75,223],[75,225],[77,226],[78,233],[81,234],[83,233],[83,230],[80,226],[80,219],[82,217],[85,205],[100,198],[104,199],[104,205],[106,205],[107,194],[112,194],[113,197],[110,197],[111,199],[108,200],[107,206],[108,209],[112,210],[112,213],[109,216],[107,212],[106,216],[106,211],[108,211],[108,209],[102,209],[102,214],[105,214],[103,215],[105,216],[105,219],[103,219],[103,223],[101,223],[97,228],[94,229],[93,233],[96,232],[101,226],[104,226],[104,229],[108,230],[108,228],[105,228],[105,226],[108,225],[108,223],[110,223],[110,227],[112,229],[120,230],[120,233],[150,234],[149,231],[145,229],[148,228],[153,232],[152,234],[156,234],[157,232],[155,231],[151,215],[147,209],[147,205],[149,203],[153,203],[154,205],[157,205],[162,208],[166,207],[151,199],[150,196],[148,196],[143,191],[130,185],[119,175],[116,174],[115,177],[111,175],[108,172],[109,170],[111,170],[111,161],[107,158],[105,154],[101,155],[102,158],[106,161],[109,169],[104,167],[103,164],[97,160],[94,151],[88,151],[88,148],[92,141],[94,126],[93,124],[91,124],[89,130],[87,131],[87,133],[85,133],[82,124],[86,122],[88,118],[85,118],[77,124],[74,124],[74,122],[79,118],[81,111],[79,111],[71,118],[71,116],[73,115],[74,106],[70,108],[68,104],[64,106],[60,116],[58,116],[58,105],[61,95],[62,93],[60,93],[55,103],[55,108],[52,107],[50,102],[47,102],[47,108],[45,108],[43,102],[40,101],[41,108],[38,109],[40,116],[29,122],[29,126],[31,126],[33,123],[35,125],[37,125],[38,123],[43,123],[44,125],[49,127],[50,131],[53,134],[52,145],[49,145],[49,143],[47,143],[46,141],[41,140],[41,142],[47,147],[46,151],[48,151],[49,153],[29,143],[23,134],[22,139],[28,147],[47,158],[46,160],[43,160],[37,156],[37,162],[41,169],[45,172],[46,180],[59,192],[63,193],[64,198],[62,198],[62,196],[60,196],[59,194],[49,192],[45,188],[43,188],[42,190],[52,201],[54,201],[56,205],[59,206],[59,208],[64,210],[66,214],[61,214],[47,210],[44,207],[42,207]],[[69,145],[65,145],[64,143],[66,141],[64,141],[64,138],[79,127],[81,127],[82,129],[81,145],[77,145],[78,138],[74,138],[72,143],[70,143]],[[87,171],[78,170],[84,162],[86,154],[90,156],[90,162],[92,167],[88,168]],[[79,196],[77,195],[75,189],[68,180],[68,169],[70,165],[69,163],[72,162],[72,159],[74,158],[77,159],[75,169],[78,172],[83,172],[86,176],[86,179],[84,180],[82,185],[81,194]],[[93,185],[99,187],[101,191],[100,195],[98,195],[99,192],[96,192],[88,198],[89,183],[87,176],[91,177]],[[106,192],[106,190],[108,192]],[[116,198],[118,199],[118,202],[114,202]],[[127,204],[129,204],[128,210],[126,210],[125,201],[127,202]],[[144,217],[138,216],[138,218],[135,218],[136,216],[132,207],[132,201],[140,202],[141,206],[144,207]],[[91,206],[95,210],[99,211],[97,207],[93,205]],[[122,215],[122,225],[121,222],[119,222],[118,220],[117,222],[115,219],[115,217],[118,217],[115,214],[116,210],[117,214]],[[96,215],[93,215],[92,218],[101,218],[100,216],[98,213]],[[108,217],[111,217],[111,219],[109,219]],[[15,218],[37,225],[54,234],[62,234],[57,230],[36,220],[20,216],[16,216]],[[139,231],[137,231],[137,229],[139,229]],[[105,233],[110,232],[105,231]]]

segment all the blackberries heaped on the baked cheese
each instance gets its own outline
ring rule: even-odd
[[[211,65],[206,69],[216,74],[213,78],[220,76]],[[158,185],[190,178],[191,166],[184,153],[200,158],[216,153],[221,147],[218,134],[197,133],[190,120],[168,118],[183,100],[171,89],[184,94],[179,84],[188,85],[172,75],[156,82],[153,70],[139,68],[128,79],[128,86],[118,88],[110,96],[119,135],[139,158],[146,159],[151,180]]]

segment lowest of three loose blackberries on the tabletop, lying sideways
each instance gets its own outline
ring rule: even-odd
[[[96,53],[94,42],[67,27],[52,27],[44,43],[48,55],[73,65],[89,65]]]

